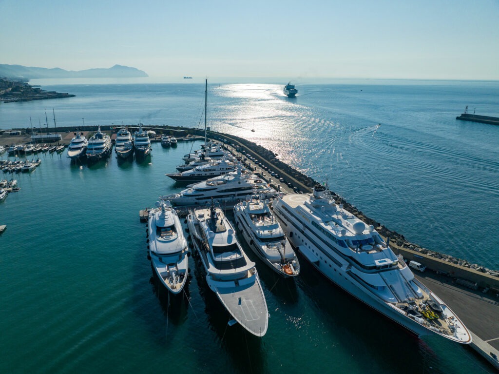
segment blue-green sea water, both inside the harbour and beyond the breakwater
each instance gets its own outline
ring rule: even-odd
[[[209,86],[209,124],[246,137],[408,240],[499,269],[499,127],[455,120],[465,105],[499,115],[497,82]],[[71,84],[77,96],[1,104],[0,128],[44,109],[59,125],[201,127],[204,82]],[[381,126],[379,126],[381,123]],[[252,132],[251,129],[255,131]],[[249,337],[191,259],[184,298],[157,287],[138,211],[182,187],[164,174],[199,143],[154,145],[150,160],[71,165],[42,154],[0,203],[1,373],[185,371],[488,372],[469,348],[414,339],[302,261],[290,282],[257,261],[268,333]],[[252,256],[252,253],[249,253]],[[254,257],[254,256],[252,256]]]

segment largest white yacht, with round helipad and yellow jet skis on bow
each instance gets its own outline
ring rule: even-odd
[[[279,197],[272,207],[291,244],[346,292],[418,336],[435,333],[471,343],[454,312],[415,279],[372,225],[337,205],[326,187]]]

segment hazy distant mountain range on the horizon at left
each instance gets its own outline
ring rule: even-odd
[[[58,67],[27,67],[22,65],[0,64],[0,77],[7,78],[136,78],[149,76],[145,71],[123,65],[114,65],[108,69],[64,70]]]

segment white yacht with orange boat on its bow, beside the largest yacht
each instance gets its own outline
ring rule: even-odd
[[[234,207],[237,226],[261,261],[285,278],[297,276],[298,258],[268,204],[268,200],[255,195],[237,204]]]

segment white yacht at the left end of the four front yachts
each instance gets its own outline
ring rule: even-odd
[[[156,202],[149,212],[149,255],[161,283],[173,294],[184,288],[189,271],[187,240],[169,201]]]

